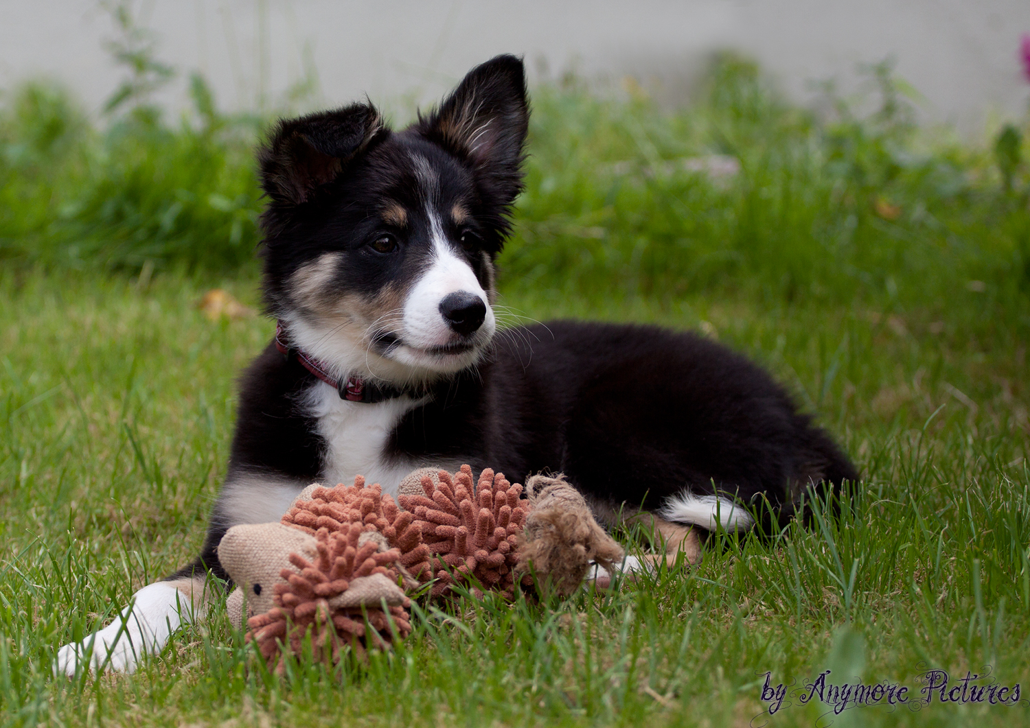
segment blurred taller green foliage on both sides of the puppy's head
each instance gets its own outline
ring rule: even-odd
[[[503,271],[587,296],[749,286],[787,301],[925,304],[972,285],[1021,299],[1024,135],[1010,127],[981,148],[920,129],[889,66],[869,79],[866,97],[830,96],[822,114],[733,56],[675,112],[632,83],[607,98],[575,77],[535,90]],[[220,114],[199,76],[191,88],[195,108],[177,124],[138,105],[103,130],[54,86],[4,96],[0,256],[129,272],[252,259],[262,125]]]

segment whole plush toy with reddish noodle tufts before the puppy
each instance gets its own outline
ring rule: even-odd
[[[591,561],[611,570],[622,558],[560,476],[530,478],[526,490],[522,498],[521,485],[488,469],[473,485],[469,465],[409,475],[404,510],[360,476],[309,486],[281,523],[234,526],[222,538],[218,558],[238,585],[230,619],[246,621],[247,638],[277,670],[308,639],[316,658],[336,663],[347,649],[363,656],[407,636],[406,590],[430,581],[430,598],[453,597],[458,584],[512,598],[516,582],[569,594]]]

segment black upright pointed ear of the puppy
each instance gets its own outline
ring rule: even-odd
[[[529,123],[525,69],[514,56],[476,66],[418,125],[426,139],[473,164],[510,203],[522,188],[522,145]]]

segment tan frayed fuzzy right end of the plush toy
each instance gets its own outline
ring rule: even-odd
[[[590,507],[564,476],[526,481],[533,506],[518,548],[518,570],[533,573],[541,588],[564,596],[579,588],[593,561],[609,571],[622,548],[597,525]]]

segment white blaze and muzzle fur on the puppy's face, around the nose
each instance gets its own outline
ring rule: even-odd
[[[450,293],[465,291],[479,297],[486,307],[486,318],[473,336],[474,343],[485,343],[493,336],[496,320],[479,284],[475,271],[451,247],[435,211],[430,211],[433,235],[432,263],[412,287],[404,306],[404,343],[418,349],[433,349],[460,341],[440,311],[440,302]],[[459,358],[455,356],[454,358]]]

